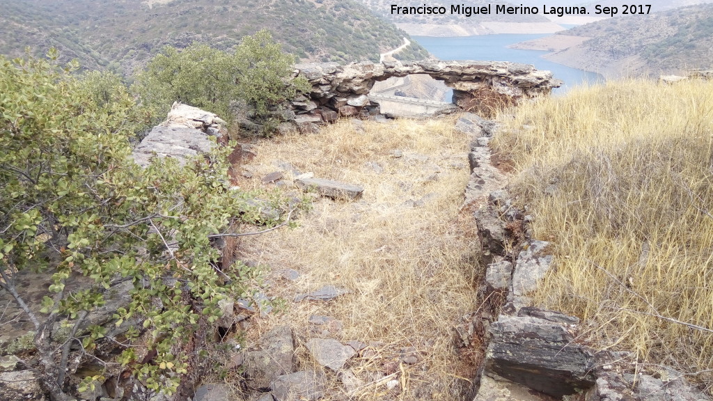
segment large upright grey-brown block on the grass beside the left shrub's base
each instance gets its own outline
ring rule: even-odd
[[[277,326],[265,334],[260,343],[260,350],[245,352],[243,366],[252,387],[266,388],[278,376],[292,373],[292,330],[284,325]]]

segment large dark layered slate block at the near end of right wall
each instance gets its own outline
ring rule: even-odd
[[[553,397],[595,384],[593,352],[573,342],[561,325],[540,318],[501,316],[489,331],[486,372]]]

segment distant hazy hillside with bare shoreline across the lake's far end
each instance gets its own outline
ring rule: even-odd
[[[374,14],[383,16],[411,35],[421,36],[472,36],[486,34],[549,34],[562,29],[541,15],[504,15],[496,14],[498,4],[514,6],[503,0],[476,0],[463,4],[462,1],[443,0],[429,3],[429,6],[445,6],[443,15],[391,14],[391,4],[386,0],[359,0],[369,7]],[[451,14],[451,5],[477,8],[491,4],[491,14]],[[423,1],[401,1],[399,6],[423,6]],[[541,4],[540,4],[541,6]]]

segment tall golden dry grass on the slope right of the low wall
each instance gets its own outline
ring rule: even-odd
[[[600,347],[713,382],[713,82],[607,83],[514,113],[491,143],[555,244],[538,301]]]

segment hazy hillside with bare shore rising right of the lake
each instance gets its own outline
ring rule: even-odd
[[[713,65],[713,4],[617,16],[570,29],[520,49],[553,51],[545,59],[605,76],[676,73]]]

